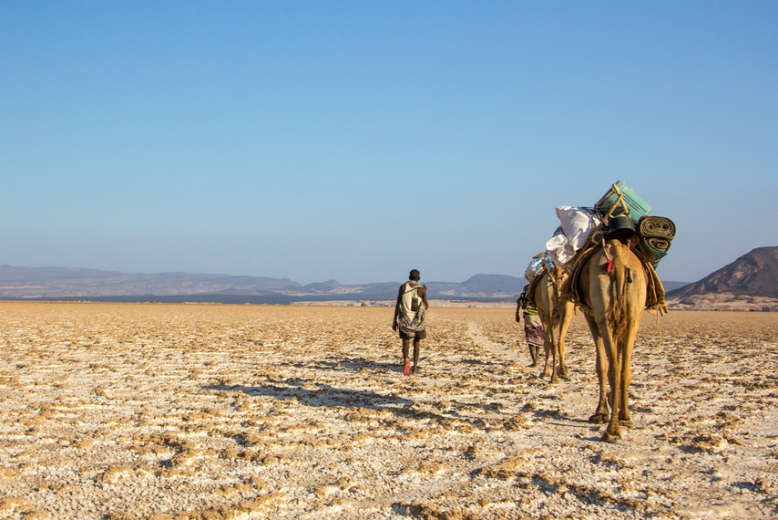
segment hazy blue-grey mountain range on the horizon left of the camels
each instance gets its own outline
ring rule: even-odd
[[[341,285],[335,280],[300,285],[288,278],[219,274],[128,274],[97,269],[0,266],[0,299],[95,301],[294,301],[394,300],[402,282]],[[473,301],[516,299],[526,282],[479,274],[462,283],[427,282],[429,298]]]

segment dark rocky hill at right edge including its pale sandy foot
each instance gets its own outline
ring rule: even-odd
[[[778,247],[760,247],[667,293],[671,308],[778,310]]]

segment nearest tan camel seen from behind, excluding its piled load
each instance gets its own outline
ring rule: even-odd
[[[627,392],[632,374],[630,361],[640,318],[646,308],[646,268],[629,245],[605,240],[603,248],[584,260],[577,277],[577,291],[589,330],[597,347],[600,400],[589,418],[608,422],[604,441],[621,438],[619,423],[631,426]],[[610,386],[610,418],[605,374]]]

